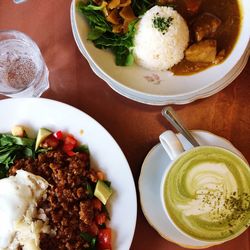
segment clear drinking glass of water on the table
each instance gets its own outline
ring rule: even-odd
[[[39,97],[49,88],[49,71],[36,43],[16,30],[0,31],[0,94]]]

